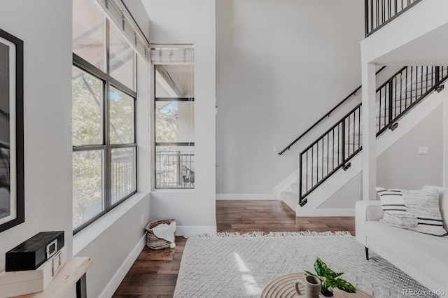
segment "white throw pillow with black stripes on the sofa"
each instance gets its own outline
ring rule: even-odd
[[[377,187],[384,211],[382,222],[423,234],[448,236],[440,214],[437,190],[386,190]]]

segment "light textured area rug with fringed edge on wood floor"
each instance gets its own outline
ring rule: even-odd
[[[437,297],[370,253],[349,232],[218,233],[188,238],[174,297],[260,297],[272,279],[312,270],[316,257],[356,288],[379,297]],[[421,295],[420,295],[421,294]]]

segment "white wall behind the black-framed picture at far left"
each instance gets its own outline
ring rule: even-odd
[[[0,7],[25,52],[25,223],[0,233],[2,271],[6,251],[38,232],[63,230],[71,254],[71,1]]]

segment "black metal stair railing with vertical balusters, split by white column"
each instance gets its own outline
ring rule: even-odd
[[[377,88],[377,136],[395,129],[398,120],[431,92],[443,89],[448,66],[405,66]],[[362,105],[358,104],[299,156],[299,204],[362,150]]]

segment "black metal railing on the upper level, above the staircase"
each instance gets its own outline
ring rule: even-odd
[[[365,0],[365,37],[422,0]]]

